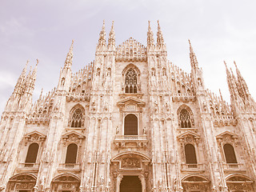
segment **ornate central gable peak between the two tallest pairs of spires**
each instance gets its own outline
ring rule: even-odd
[[[134,38],[129,38],[118,46],[116,52],[117,61],[145,61],[146,47]]]

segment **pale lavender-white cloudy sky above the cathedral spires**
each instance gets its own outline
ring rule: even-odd
[[[58,84],[60,68],[74,39],[73,72],[94,61],[102,21],[106,37],[112,20],[117,46],[132,37],[146,46],[148,21],[156,39],[157,21],[168,60],[190,72],[192,43],[206,88],[230,102],[225,60],[236,61],[250,94],[256,71],[256,1],[239,0],[0,0],[0,114],[26,61],[38,77],[33,99]]]

